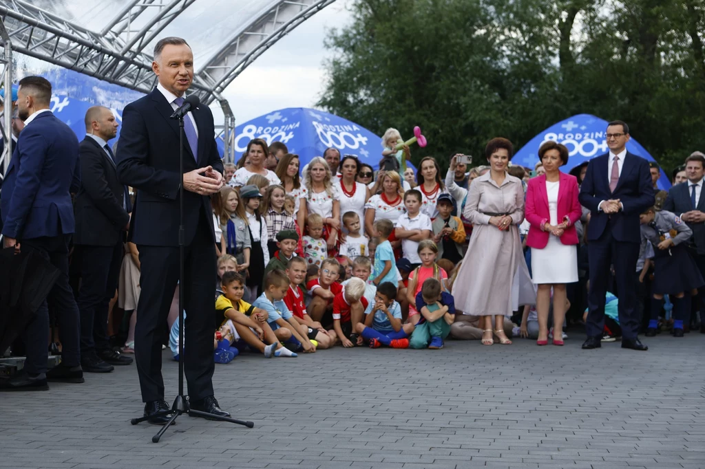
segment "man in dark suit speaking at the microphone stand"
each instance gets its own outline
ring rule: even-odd
[[[179,280],[179,125],[170,119],[183,104],[193,80],[193,54],[179,37],[154,46],[157,89],[128,104],[118,142],[118,177],[137,189],[129,239],[140,251],[142,293],[137,304],[135,360],[145,417],[168,411],[161,377],[161,338]],[[223,163],[214,138],[213,115],[199,106],[184,118],[183,215],[185,278],[185,372],[190,406],[221,411],[213,393],[213,288],[216,252],[209,195],[223,185]],[[163,424],[168,415],[148,421]]]

